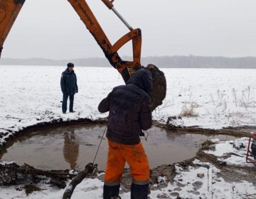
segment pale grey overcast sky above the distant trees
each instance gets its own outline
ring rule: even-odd
[[[129,30],[101,0],[86,0],[114,44]],[[256,56],[255,0],[115,0],[142,30],[145,56]],[[26,0],[3,45],[3,58],[104,57],[67,0]],[[132,55],[131,42],[118,51]]]

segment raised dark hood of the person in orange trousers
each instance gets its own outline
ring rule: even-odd
[[[139,69],[130,77],[127,84],[137,85],[151,96],[152,92],[152,74],[146,69]]]

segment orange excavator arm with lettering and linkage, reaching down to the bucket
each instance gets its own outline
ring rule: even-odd
[[[122,74],[123,80],[127,82],[131,74],[135,71],[131,68],[141,67],[141,30],[129,27],[130,32],[122,36],[115,44],[109,42],[108,37],[102,30],[100,24],[98,23],[96,17],[90,10],[90,7],[84,0],[68,0],[72,7],[75,9],[76,13],[80,16],[82,22],[84,22],[86,28],[93,35],[94,39],[100,45],[102,51],[104,52],[109,63]],[[102,0],[109,9],[113,9],[113,4],[109,0]],[[116,11],[116,10],[115,10]],[[117,12],[117,11],[116,11]],[[119,18],[122,19],[121,15]],[[127,25],[127,23],[125,23]],[[129,25],[128,25],[129,26]],[[118,50],[130,40],[133,41],[133,61],[123,61],[118,55]]]

